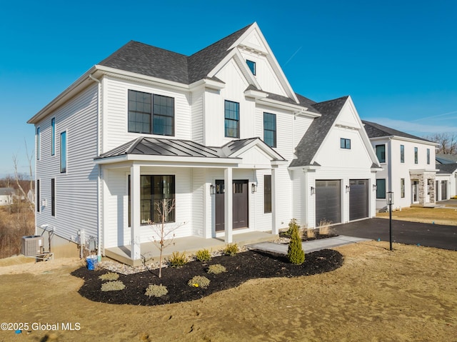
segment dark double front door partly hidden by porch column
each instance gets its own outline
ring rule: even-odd
[[[224,180],[216,180],[216,231],[224,231]],[[233,191],[233,229],[248,226],[248,180],[235,180]]]

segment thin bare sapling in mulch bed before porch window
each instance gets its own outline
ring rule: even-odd
[[[166,221],[172,211],[174,211],[175,203],[174,199],[162,199],[160,202],[156,203],[156,210],[159,214],[159,222],[151,222],[149,225],[153,228],[153,238],[154,243],[157,248],[159,248],[159,278],[162,278],[162,255],[164,249],[168,246],[171,246],[174,239],[174,231],[179,228],[181,225],[174,226],[171,228],[166,228]],[[171,235],[173,233],[173,235]]]

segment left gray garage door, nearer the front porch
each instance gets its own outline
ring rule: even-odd
[[[341,181],[316,181],[316,226],[323,221],[341,223]]]

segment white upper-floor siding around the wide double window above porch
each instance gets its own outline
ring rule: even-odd
[[[139,136],[151,136],[166,139],[191,139],[190,94],[186,91],[170,90],[165,87],[149,86],[132,81],[104,76],[104,146],[101,153],[132,141]],[[137,134],[129,132],[129,90],[143,91],[174,98],[174,136]]]

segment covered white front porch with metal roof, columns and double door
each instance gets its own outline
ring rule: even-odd
[[[157,236],[151,235],[151,221],[161,222],[154,206],[157,198],[174,203],[170,217],[164,221],[164,231],[174,231],[176,238],[174,246],[166,251],[169,254],[221,248],[232,242],[243,245],[263,238],[271,240],[278,233],[276,173],[286,161],[258,138],[233,141],[221,148],[141,138],[102,154],[96,162],[102,168],[104,189],[102,254],[110,258],[138,265],[154,258],[154,251],[159,255],[152,242]],[[261,203],[263,191],[256,194],[257,183],[266,173],[271,176],[268,213]],[[247,199],[246,224],[241,226],[233,226],[238,213],[233,198],[241,189],[236,186],[237,180],[242,180],[241,191]],[[225,191],[224,185],[219,186],[221,192],[215,191],[218,181],[233,186],[226,187],[230,191]],[[216,229],[217,203],[224,227]]]

